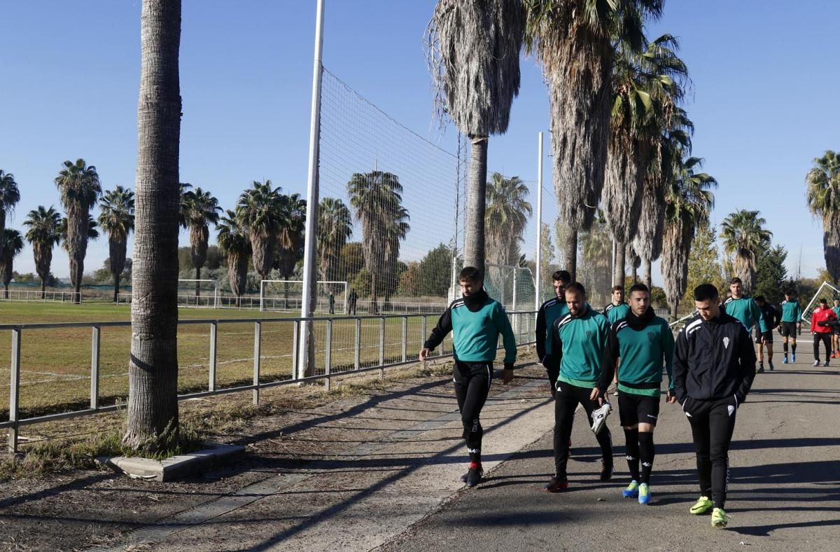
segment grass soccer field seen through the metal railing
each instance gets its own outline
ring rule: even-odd
[[[0,324],[129,321],[129,306],[102,303],[73,305],[60,302],[2,302]],[[181,308],[186,319],[267,318],[260,339],[260,381],[278,381],[292,375],[293,323],[290,314],[256,310]],[[378,365],[380,320],[362,321],[360,365]],[[427,329],[437,323],[429,315]],[[325,369],[326,323],[315,323],[316,367]],[[24,329],[21,337],[20,418],[68,412],[90,402],[90,328]],[[124,401],[128,395],[130,327],[102,328],[99,397],[102,406]],[[407,323],[407,358],[416,357],[425,336],[421,318]],[[331,366],[333,372],[354,367],[354,318],[333,319]],[[8,419],[11,331],[0,331],[0,420]],[[449,352],[445,343],[442,351]],[[181,324],[178,329],[179,392],[207,390],[210,325]],[[385,360],[402,360],[402,319],[387,318]],[[254,323],[218,324],[217,388],[249,384],[254,370]]]

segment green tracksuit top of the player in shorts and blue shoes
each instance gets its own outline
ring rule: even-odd
[[[618,390],[634,395],[659,397],[662,365],[668,372],[669,389],[674,388],[674,334],[668,323],[649,310],[642,317],[627,315],[613,323],[606,340],[604,365],[598,387],[606,392],[621,359]]]

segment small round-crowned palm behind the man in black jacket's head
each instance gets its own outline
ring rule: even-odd
[[[759,253],[767,250],[773,235],[764,228],[767,220],[759,217],[760,211],[738,209],[730,213],[721,223],[723,249],[732,258],[732,269],[741,278],[743,292],[749,294],[755,289],[755,269],[759,262]]]

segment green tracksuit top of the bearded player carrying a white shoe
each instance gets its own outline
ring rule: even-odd
[[[568,313],[555,320],[549,374],[574,386],[596,386],[609,331],[606,316],[596,313],[588,303],[578,316]]]

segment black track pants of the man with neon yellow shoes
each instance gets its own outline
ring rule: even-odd
[[[727,500],[729,444],[737,410],[735,397],[707,401],[689,397],[683,403],[683,412],[691,424],[697,451],[700,492],[704,497],[711,497],[718,508],[722,508]]]

